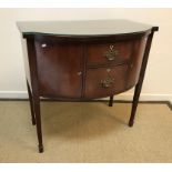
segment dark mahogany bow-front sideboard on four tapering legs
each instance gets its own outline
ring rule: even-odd
[[[133,125],[149,52],[158,27],[128,20],[21,21],[32,124],[43,152],[41,98],[87,101],[135,87]]]

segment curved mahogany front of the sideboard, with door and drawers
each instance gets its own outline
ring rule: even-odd
[[[148,32],[135,36],[99,37],[93,41],[89,37],[82,41],[73,38],[65,43],[60,42],[58,36],[36,37],[40,94],[97,99],[134,87]]]

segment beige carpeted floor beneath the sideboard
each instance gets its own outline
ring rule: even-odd
[[[0,162],[172,162],[172,111],[130,103],[41,102],[44,152],[38,153],[28,101],[0,101]]]

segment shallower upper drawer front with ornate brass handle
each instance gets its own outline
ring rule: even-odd
[[[89,44],[88,65],[122,64],[130,61],[133,51],[133,41]]]

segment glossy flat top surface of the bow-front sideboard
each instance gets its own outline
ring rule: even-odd
[[[129,20],[19,21],[23,34],[101,36],[144,32],[154,27]]]

